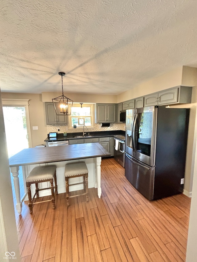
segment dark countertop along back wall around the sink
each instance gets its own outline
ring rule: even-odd
[[[64,141],[69,139],[84,139],[88,137],[76,138],[74,136],[82,136],[82,132],[78,133],[67,133],[67,136],[63,136],[63,133],[57,134],[56,138],[50,139],[49,134],[48,137],[44,141]],[[85,136],[92,135],[93,137],[104,137],[104,136],[115,136],[115,135],[125,135],[125,131],[123,130],[115,130],[115,131],[97,131],[97,132],[86,132]]]

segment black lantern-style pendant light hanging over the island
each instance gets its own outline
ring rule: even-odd
[[[59,72],[58,74],[60,76],[65,76],[64,72]],[[53,105],[54,105],[54,108],[55,108],[57,115],[70,115],[71,114],[71,110],[72,110],[72,106],[73,106],[73,100],[64,96],[63,79],[62,79],[62,96],[58,96],[56,98],[53,98],[52,101],[53,101]],[[70,111],[69,111],[68,103],[70,104]]]

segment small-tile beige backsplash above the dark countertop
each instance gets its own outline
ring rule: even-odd
[[[59,131],[58,131],[59,129]],[[125,131],[124,123],[111,123],[110,127],[101,127],[101,124],[94,124],[94,127],[88,128],[86,132],[96,132],[96,131],[113,131],[113,130],[123,130]],[[67,125],[47,125],[47,133],[58,132],[58,133],[81,133],[83,128],[72,128],[68,129]]]

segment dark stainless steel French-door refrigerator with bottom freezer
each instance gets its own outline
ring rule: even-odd
[[[189,109],[126,111],[125,176],[149,200],[183,192]]]

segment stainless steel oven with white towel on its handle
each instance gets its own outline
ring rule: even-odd
[[[115,146],[114,146],[114,159],[124,167],[124,144],[125,136],[116,135],[114,137]]]

